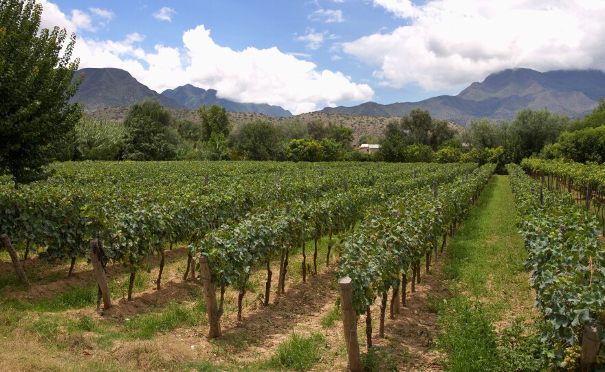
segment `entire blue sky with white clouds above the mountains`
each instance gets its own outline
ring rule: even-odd
[[[36,0],[80,68],[294,114],[456,95],[509,68],[605,69],[605,0]]]

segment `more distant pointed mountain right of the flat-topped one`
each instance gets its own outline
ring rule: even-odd
[[[197,86],[192,86],[191,84],[186,84],[175,89],[166,89],[166,91],[162,92],[162,95],[179,102],[179,104],[182,104],[190,110],[196,110],[203,104],[206,106],[217,104],[232,113],[259,113],[274,117],[292,116],[291,112],[284,110],[280,106],[233,102],[217,97],[217,93],[218,92],[214,89],[206,90],[198,88]]]

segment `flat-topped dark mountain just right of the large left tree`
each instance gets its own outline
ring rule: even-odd
[[[70,102],[85,104],[87,112],[105,107],[131,106],[149,98],[159,100],[166,108],[184,108],[175,100],[152,91],[122,69],[80,69],[74,74],[74,80],[80,73],[84,74],[84,80]]]

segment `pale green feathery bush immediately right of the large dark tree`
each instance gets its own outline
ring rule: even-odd
[[[115,121],[83,118],[76,124],[76,150],[84,160],[115,160],[124,146],[126,128]]]

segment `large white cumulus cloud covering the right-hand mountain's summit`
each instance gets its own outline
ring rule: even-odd
[[[342,43],[382,84],[427,91],[511,67],[602,69],[604,1],[374,0],[402,19],[392,32]]]

